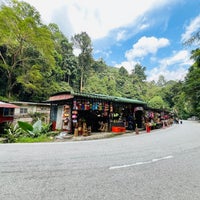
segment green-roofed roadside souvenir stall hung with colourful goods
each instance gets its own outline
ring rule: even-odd
[[[145,102],[135,99],[72,92],[54,94],[48,102],[52,129],[76,136],[91,132],[125,132],[130,118],[140,127],[146,106]]]

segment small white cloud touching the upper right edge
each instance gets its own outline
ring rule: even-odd
[[[181,35],[181,41],[185,42],[192,37],[192,34],[200,30],[200,15],[193,19],[190,24],[186,27],[185,33]]]

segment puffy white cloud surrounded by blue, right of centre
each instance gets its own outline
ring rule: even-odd
[[[134,60],[136,58],[142,59],[148,54],[155,54],[159,48],[166,47],[170,44],[166,38],[156,37],[142,37],[136,44],[133,45],[131,50],[125,53],[127,60]]]

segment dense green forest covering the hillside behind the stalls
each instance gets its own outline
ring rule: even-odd
[[[186,44],[199,43],[199,32]],[[79,49],[76,56],[73,49]],[[56,24],[45,25],[40,13],[25,2],[0,7],[0,100],[41,102],[61,91],[78,91],[139,99],[149,107],[168,109],[181,118],[200,117],[200,49],[184,81],[146,80],[146,67],[131,74],[93,58],[86,32],[67,38]]]

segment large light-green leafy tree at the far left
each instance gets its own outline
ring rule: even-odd
[[[16,0],[8,3],[0,8],[0,46],[6,47],[0,52],[0,68],[6,77],[6,96],[11,98],[19,87],[30,94],[37,93],[42,86],[41,71],[50,72],[54,58],[51,33],[41,23],[36,9]],[[43,66],[38,62],[41,59]]]

